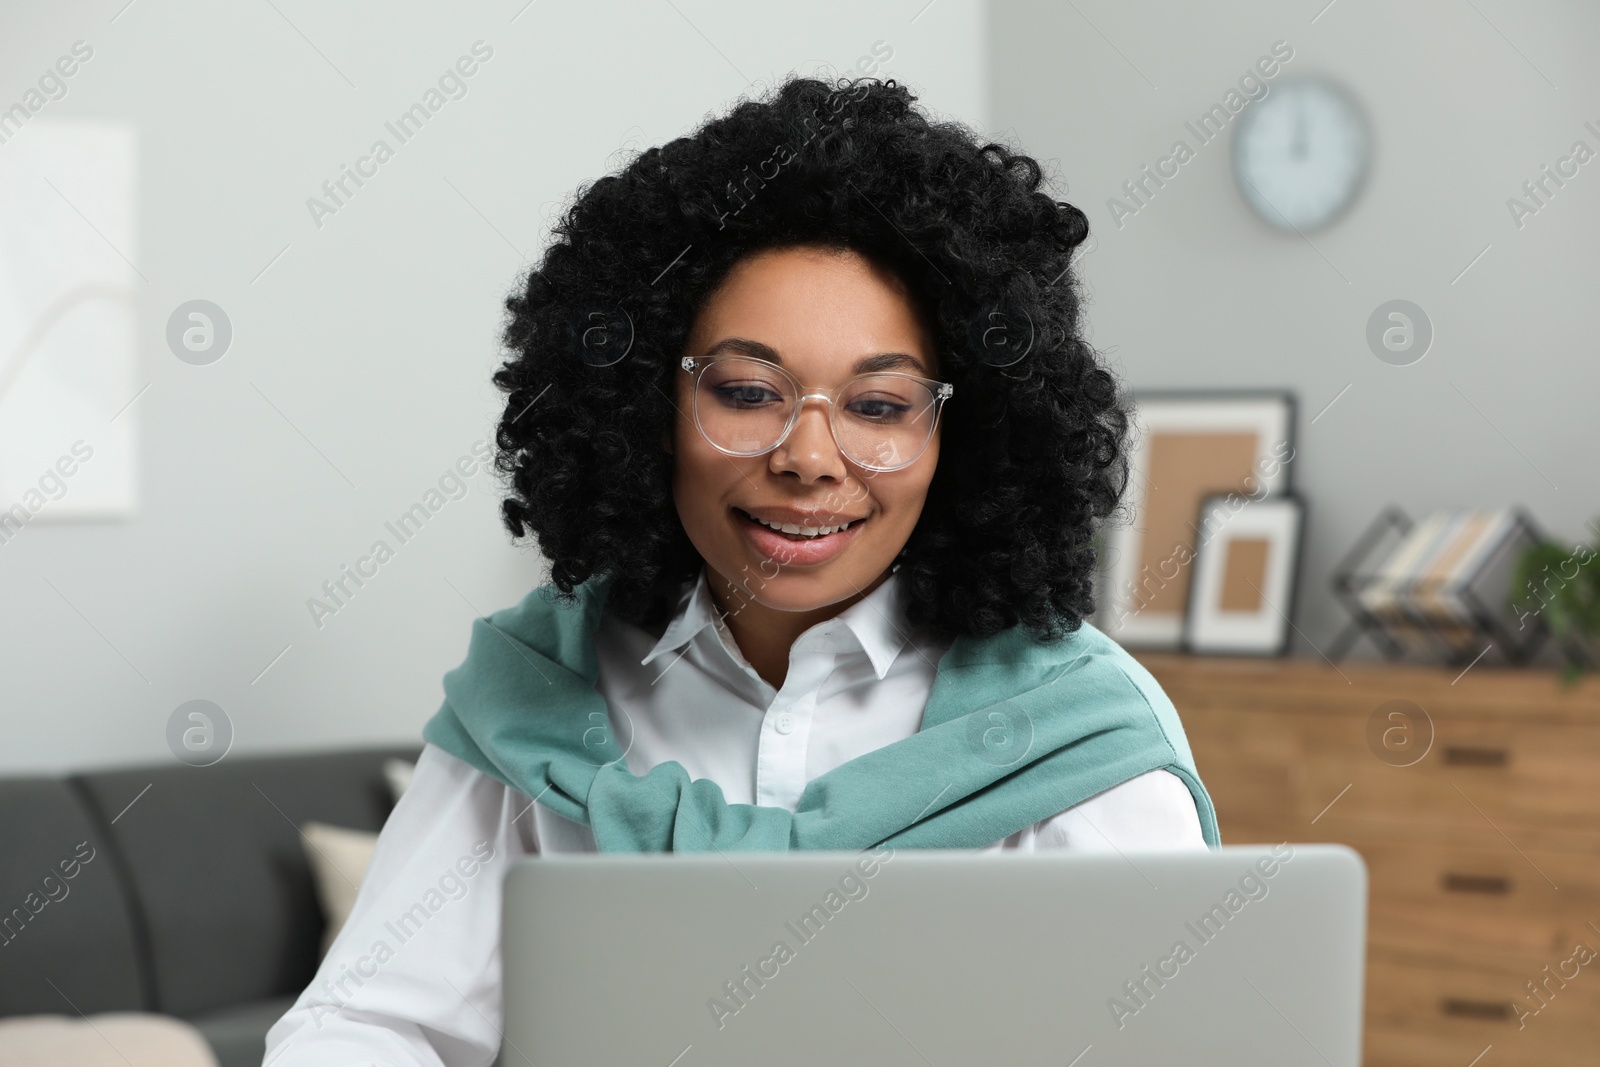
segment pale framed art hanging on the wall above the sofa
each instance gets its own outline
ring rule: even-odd
[[[34,118],[0,152],[5,544],[37,520],[134,515],[146,376],[136,125]]]

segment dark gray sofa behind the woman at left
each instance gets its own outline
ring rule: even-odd
[[[258,1067],[325,925],[296,827],[381,829],[419,752],[0,777],[0,1016],[158,1011]]]

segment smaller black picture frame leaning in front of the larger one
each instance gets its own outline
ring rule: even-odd
[[[1218,493],[1200,502],[1202,530],[1182,648],[1206,656],[1283,656],[1306,537],[1294,493],[1250,499]]]

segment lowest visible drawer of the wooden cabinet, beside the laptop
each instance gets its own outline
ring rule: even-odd
[[[1578,965],[1570,955],[1570,949],[1547,957],[1498,957],[1371,947],[1366,1067],[1467,1067],[1490,1046],[1480,1067],[1594,1064],[1600,958]],[[1576,974],[1552,977],[1557,969]],[[1539,981],[1542,1001],[1526,985]]]

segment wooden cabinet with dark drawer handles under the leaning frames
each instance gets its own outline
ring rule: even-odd
[[[1600,680],[1136,656],[1226,845],[1366,859],[1370,1067],[1600,1064]]]

